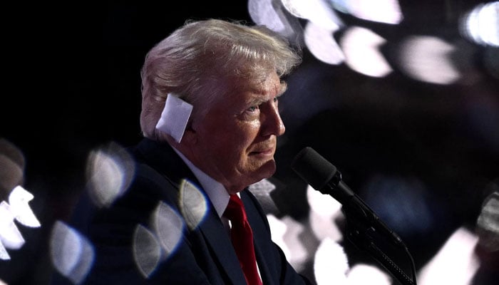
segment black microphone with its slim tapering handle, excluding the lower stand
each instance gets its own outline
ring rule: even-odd
[[[341,172],[312,147],[301,150],[292,160],[291,168],[312,188],[340,202],[347,219],[355,219],[368,230],[379,232],[396,245],[403,245],[401,238],[341,180]]]

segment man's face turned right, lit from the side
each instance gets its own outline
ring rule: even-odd
[[[285,88],[277,73],[242,86],[192,123],[195,165],[231,193],[274,174],[277,136],[284,134],[277,97]]]

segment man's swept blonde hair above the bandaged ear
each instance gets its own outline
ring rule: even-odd
[[[301,61],[299,47],[265,26],[218,19],[186,21],[145,56],[140,72],[142,133],[159,138],[155,125],[168,93],[192,104],[193,113],[202,113],[216,96],[227,93],[222,81],[258,80],[262,71],[269,70],[282,77]]]

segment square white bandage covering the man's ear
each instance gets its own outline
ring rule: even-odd
[[[192,105],[178,98],[177,95],[168,93],[165,108],[158,124],[156,124],[156,129],[168,133],[176,142],[180,142],[191,112]]]

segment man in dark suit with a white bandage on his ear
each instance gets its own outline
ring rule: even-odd
[[[95,247],[88,284],[247,284],[224,215],[231,195],[252,229],[254,282],[309,284],[247,190],[276,170],[282,76],[300,61],[264,26],[215,19],[187,22],[149,51],[135,177],[86,229]]]

